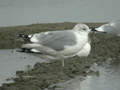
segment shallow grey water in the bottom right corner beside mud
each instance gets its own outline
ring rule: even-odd
[[[73,79],[64,84],[58,84],[55,90],[120,90],[120,64],[111,62],[102,66],[97,64],[91,68],[99,74],[88,75],[84,80]]]

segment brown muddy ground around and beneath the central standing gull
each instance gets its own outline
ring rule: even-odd
[[[71,29],[74,25],[75,23],[59,23],[0,28],[0,48],[10,48],[10,45],[6,45],[6,43],[11,44],[12,48],[20,47],[23,42],[16,41],[15,38],[18,33],[29,34],[40,31]],[[101,24],[88,25],[97,27]],[[5,37],[6,35],[7,37]],[[106,35],[98,34],[92,34],[90,37],[92,39],[92,51],[87,58],[69,58],[65,60],[65,67],[61,66],[60,60],[51,63],[36,63],[28,71],[16,71],[17,77],[13,78],[14,83],[3,84],[0,90],[44,90],[53,84],[68,81],[76,76],[85,77],[91,74],[90,67],[94,63],[100,65],[109,59],[119,62],[120,40],[118,37],[106,38]],[[54,90],[54,88],[50,90]]]

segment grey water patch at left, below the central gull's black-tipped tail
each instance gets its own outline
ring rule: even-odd
[[[17,70],[27,70],[28,65],[32,67],[36,62],[48,61],[31,54],[16,52],[16,50],[12,49],[0,50],[0,85],[4,82],[8,83],[6,81],[7,78],[15,77]]]

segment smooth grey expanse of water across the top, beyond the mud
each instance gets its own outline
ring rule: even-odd
[[[0,0],[0,26],[119,20],[120,0]]]

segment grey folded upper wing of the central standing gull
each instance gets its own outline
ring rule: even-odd
[[[65,45],[76,44],[76,37],[72,30],[42,32],[33,35],[36,43],[45,45],[55,50],[63,50]]]

